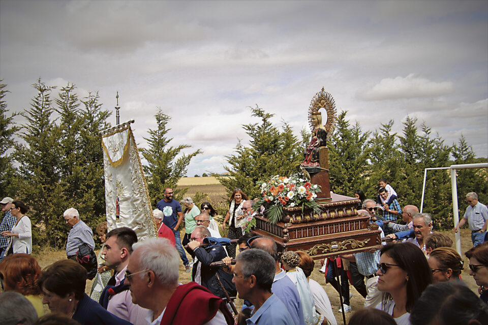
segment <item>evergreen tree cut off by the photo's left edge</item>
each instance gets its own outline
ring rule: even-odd
[[[7,85],[0,79],[0,197],[14,197],[17,184],[16,171],[13,167],[14,157],[11,153],[15,145],[14,136],[19,131],[19,127],[14,125],[14,118],[18,115],[7,114],[7,102],[4,100],[9,92]]]

